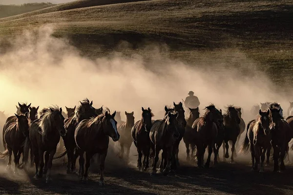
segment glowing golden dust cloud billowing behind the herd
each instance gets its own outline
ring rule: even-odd
[[[247,122],[255,103],[278,101],[286,105],[285,114],[290,100],[279,91],[274,93],[273,83],[239,50],[223,52],[230,60],[210,55],[187,64],[167,58],[166,45],[141,48],[150,54],[148,60],[135,50],[125,56],[121,50],[130,49],[124,43],[119,52],[92,60],[68,40],[53,37],[53,32],[51,25],[25,31],[10,39],[12,48],[0,55],[0,111],[6,115],[16,112],[17,102],[40,108],[57,104],[65,109],[89,98],[96,108],[104,105],[122,111],[122,119],[124,111],[134,111],[136,120],[140,119],[142,106],[162,118],[165,105],[182,101],[192,90],[201,102],[201,113],[209,103],[222,109],[234,104],[244,108]],[[132,155],[136,154],[133,147]]]

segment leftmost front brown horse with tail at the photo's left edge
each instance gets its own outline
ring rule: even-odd
[[[29,120],[27,119],[28,113],[24,115],[15,115],[16,121],[12,123],[6,123],[5,134],[3,139],[5,140],[5,151],[0,153],[0,158],[9,156],[7,170],[10,170],[12,152],[14,155],[15,170],[14,173],[18,173],[18,166],[20,162],[21,153],[23,152],[23,142],[29,132]],[[7,125],[8,124],[8,125]]]

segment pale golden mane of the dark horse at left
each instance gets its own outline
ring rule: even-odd
[[[54,129],[52,126],[54,123],[54,116],[56,114],[60,114],[60,110],[57,105],[50,106],[49,108],[46,108],[46,109],[47,111],[44,113],[42,118],[40,118],[40,123],[39,123],[39,127],[41,128],[40,133],[43,137],[47,137],[47,134],[50,133],[52,129]]]

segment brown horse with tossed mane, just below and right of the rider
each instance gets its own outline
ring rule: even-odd
[[[202,166],[205,150],[208,147],[209,156],[205,164],[206,168],[209,168],[210,156],[214,148],[215,139],[218,134],[218,128],[216,123],[218,118],[214,113],[207,109],[205,115],[200,117],[197,123],[192,125],[192,129],[197,132],[196,136],[196,149],[197,149],[197,164],[198,167]]]

